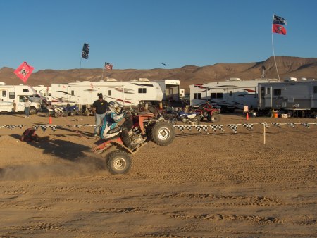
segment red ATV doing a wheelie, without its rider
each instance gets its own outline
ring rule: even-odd
[[[119,133],[118,133],[119,132]],[[125,174],[131,168],[130,154],[152,141],[159,146],[168,146],[175,138],[175,129],[162,116],[153,113],[128,115],[122,125],[111,129],[115,134],[109,139],[100,139],[92,149],[106,158],[106,167],[112,174]]]

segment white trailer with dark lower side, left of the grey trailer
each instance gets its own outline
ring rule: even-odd
[[[243,109],[244,106],[256,108],[257,86],[260,82],[278,82],[278,80],[240,80],[235,77],[222,82],[192,84],[189,85],[190,105],[192,107],[200,106],[209,101],[210,104],[220,106],[223,112]]]

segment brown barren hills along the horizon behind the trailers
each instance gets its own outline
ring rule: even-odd
[[[317,78],[317,58],[298,58],[290,56],[275,56],[278,65],[280,78],[283,77],[306,77]],[[106,77],[115,78],[118,81],[128,81],[139,79],[140,77],[154,80],[180,80],[180,87],[188,92],[190,84],[199,84],[214,81],[228,80],[230,77],[239,77],[242,80],[251,80],[261,77],[261,68],[266,68],[266,77],[278,78],[274,58],[270,57],[266,61],[254,63],[216,63],[198,67],[187,65],[182,68],[163,69],[154,68],[149,70],[104,70],[104,80]],[[13,73],[13,68],[0,69],[0,82],[6,84],[23,84],[23,82]],[[75,82],[77,80],[99,81],[102,78],[102,68],[92,69],[70,69],[70,70],[39,70],[32,73],[27,80],[31,86],[49,86],[52,83]]]

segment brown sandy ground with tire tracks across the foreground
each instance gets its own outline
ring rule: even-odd
[[[222,115],[221,125],[316,123]],[[317,125],[234,134],[176,130],[149,142],[127,175],[111,175],[94,147],[94,117],[52,118],[55,132],[20,142],[44,115],[0,115],[0,237],[316,237]],[[204,122],[204,124],[209,124]],[[49,137],[49,138],[45,138]]]

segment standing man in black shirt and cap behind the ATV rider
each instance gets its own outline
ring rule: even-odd
[[[96,127],[94,127],[94,137],[98,137],[100,126],[104,120],[104,116],[108,111],[108,102],[104,100],[102,94],[98,94],[98,100],[92,104],[92,112],[94,113],[94,119]]]

